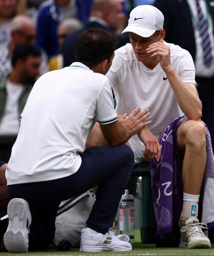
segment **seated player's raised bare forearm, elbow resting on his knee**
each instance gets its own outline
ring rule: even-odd
[[[202,104],[195,85],[183,83],[173,67],[165,71],[175,98],[189,120],[198,120],[202,115]]]

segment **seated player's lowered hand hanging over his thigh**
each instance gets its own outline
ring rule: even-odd
[[[157,155],[156,159],[157,161],[160,161],[161,146],[156,137],[151,133],[150,129],[148,127],[144,127],[138,133],[138,137],[146,146],[146,150],[144,152],[145,159],[151,161]]]

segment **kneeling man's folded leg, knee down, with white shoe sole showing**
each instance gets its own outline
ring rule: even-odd
[[[8,186],[11,201],[4,243],[9,252],[43,250],[52,242],[60,204],[52,193],[57,190],[56,184],[53,185],[51,182],[35,182]]]

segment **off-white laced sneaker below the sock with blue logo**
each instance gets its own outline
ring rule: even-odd
[[[211,248],[210,240],[202,229],[208,229],[207,225],[199,223],[197,218],[189,218],[185,225],[180,228],[179,248]]]

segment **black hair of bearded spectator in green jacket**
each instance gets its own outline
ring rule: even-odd
[[[41,52],[36,46],[30,44],[17,45],[13,51],[11,58],[12,67],[16,65],[17,60],[26,60],[29,55],[39,57],[41,56]]]

